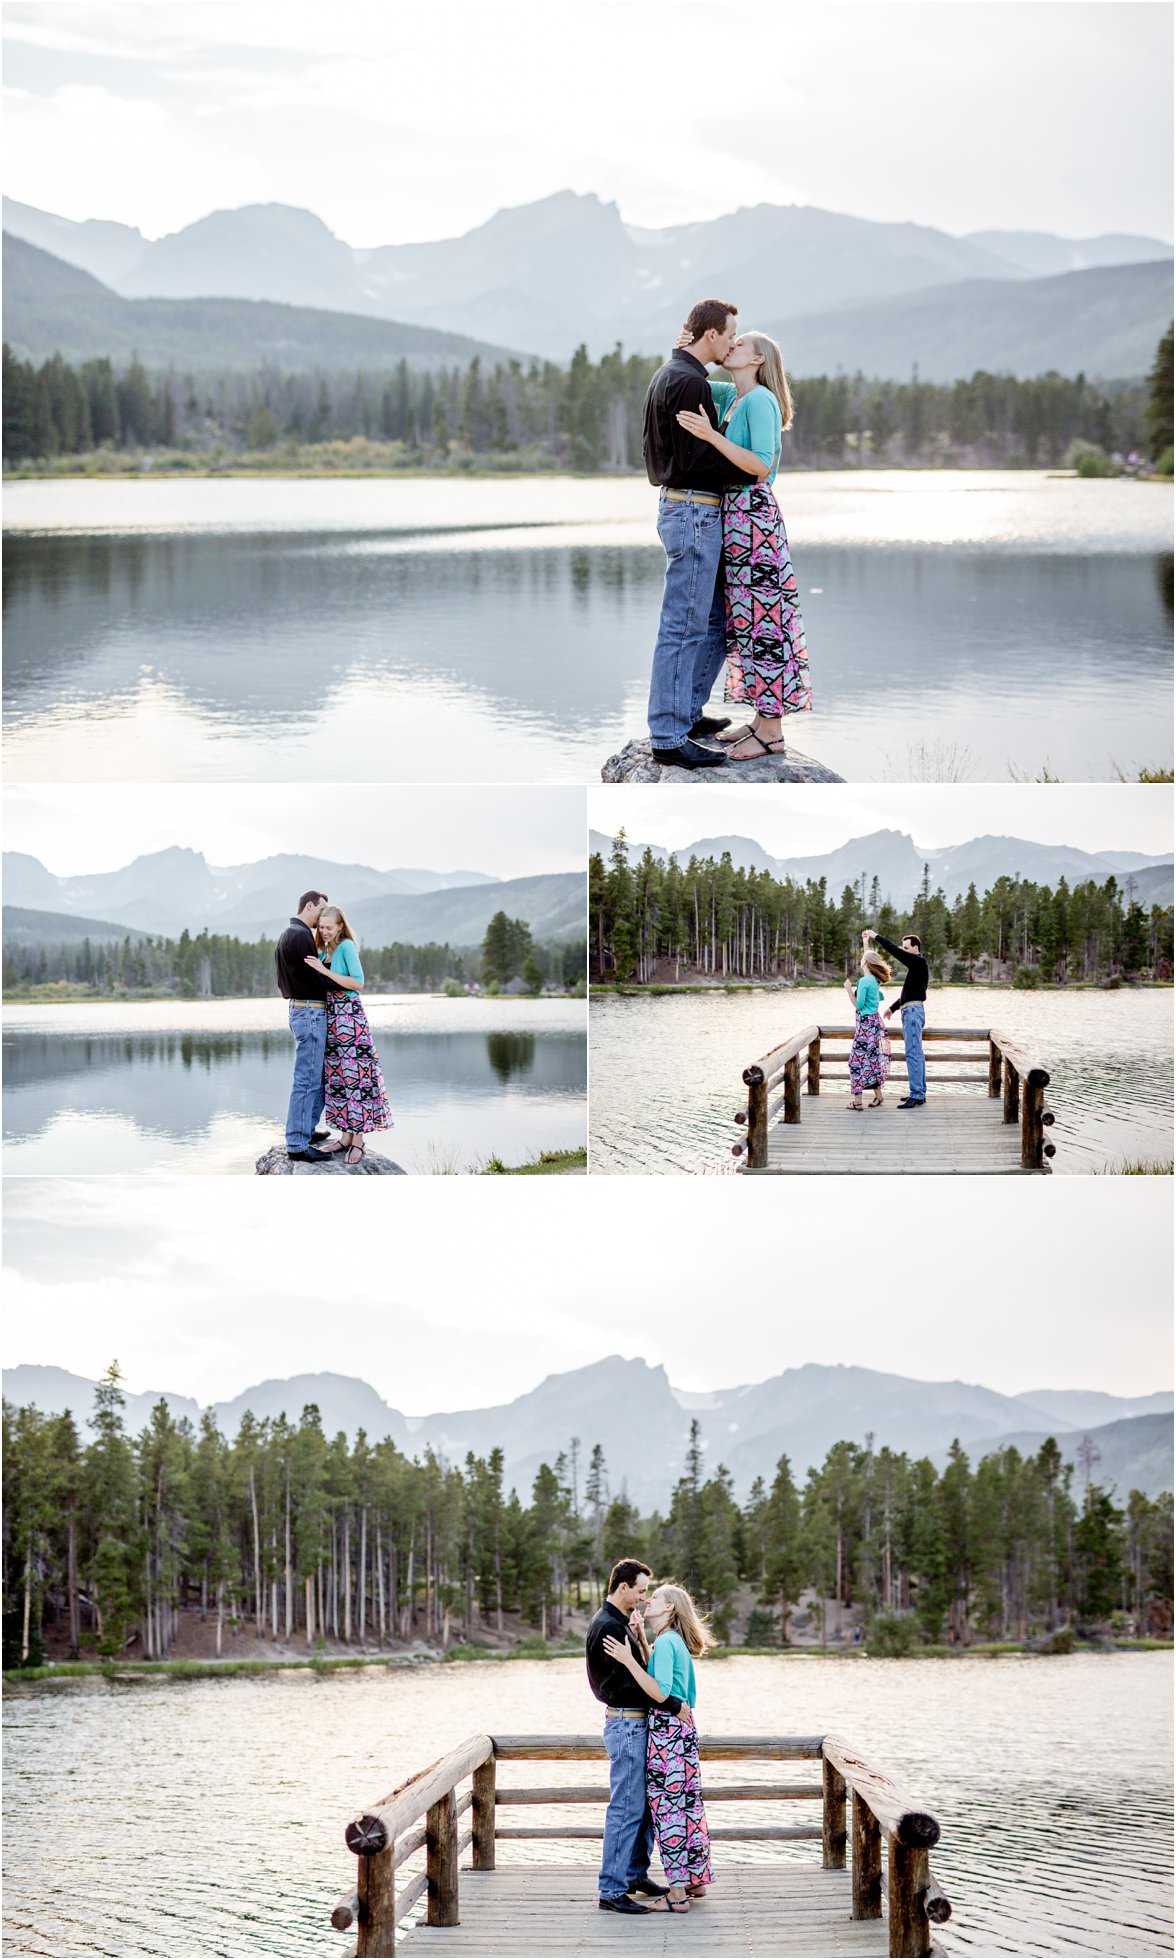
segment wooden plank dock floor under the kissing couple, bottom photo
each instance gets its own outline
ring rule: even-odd
[[[590,1866],[500,1866],[461,1874],[461,1925],[410,1927],[398,1952],[433,1954],[886,1954],[886,1919],[851,1917],[849,1872],[808,1866],[725,1866],[688,1913],[619,1919],[596,1905]],[[937,1948],[939,1950],[939,1948]]]

